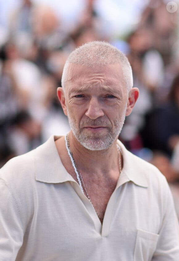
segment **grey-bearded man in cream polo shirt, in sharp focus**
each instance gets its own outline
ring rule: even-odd
[[[139,95],[125,55],[77,48],[57,94],[71,131],[1,169],[1,260],[179,260],[164,176],[117,140]]]

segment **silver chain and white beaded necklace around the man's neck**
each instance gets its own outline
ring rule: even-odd
[[[92,203],[92,201],[91,201],[91,199],[90,199],[90,196],[88,195],[88,192],[87,192],[87,190],[86,190],[86,187],[85,187],[83,178],[82,178],[82,176],[81,176],[81,172],[79,171],[79,169],[78,169],[78,167],[77,167],[77,164],[76,164],[76,162],[75,162],[75,160],[74,160],[74,158],[73,158],[73,154],[72,154],[72,152],[71,152],[71,150],[70,150],[69,133],[67,133],[66,136],[65,136],[65,144],[66,144],[66,149],[67,149],[67,152],[68,152],[69,157],[70,157],[70,159],[71,159],[72,166],[73,166],[73,168],[74,168],[74,171],[75,171],[75,174],[76,174],[76,177],[77,177],[78,184],[79,184],[79,186],[80,186],[80,188],[81,188],[81,191],[83,192],[84,195],[86,194],[87,198],[90,200],[91,204],[93,205],[93,203]],[[121,170],[122,170],[122,167],[121,167],[121,157],[120,157],[120,153],[121,153],[121,152],[120,152],[119,146],[117,146],[117,148],[118,148],[118,156],[119,156],[119,175],[120,175]],[[84,189],[83,189],[83,188],[84,188]],[[84,193],[84,190],[85,190],[85,193]],[[93,207],[94,207],[94,205],[93,205]],[[96,211],[95,207],[94,207],[94,210]],[[96,211],[96,214],[98,215],[97,211]],[[102,218],[100,215],[98,215],[98,218],[99,218],[101,221],[103,220],[103,218]]]

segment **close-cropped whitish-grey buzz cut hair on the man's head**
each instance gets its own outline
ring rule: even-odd
[[[104,66],[119,63],[122,67],[123,81],[128,92],[133,87],[131,65],[123,52],[105,41],[92,41],[77,47],[67,58],[62,73],[61,85],[65,89],[68,80],[70,64],[80,64],[86,67]]]

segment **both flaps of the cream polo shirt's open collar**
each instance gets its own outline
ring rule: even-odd
[[[37,181],[45,183],[74,181],[73,177],[63,166],[56,149],[55,140],[58,138],[60,136],[51,136],[48,141],[34,150],[35,178]],[[148,184],[144,175],[144,165],[139,164],[140,160],[143,160],[131,154],[119,140],[118,144],[123,155],[123,170],[119,176],[117,186],[131,181],[138,186],[147,188]]]

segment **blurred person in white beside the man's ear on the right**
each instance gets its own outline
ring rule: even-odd
[[[143,147],[140,131],[145,124],[145,115],[152,109],[154,94],[161,84],[164,64],[160,53],[154,48],[153,33],[149,27],[139,27],[127,39],[127,57],[133,68],[134,86],[140,91],[139,101],[127,117],[120,139],[131,151]]]

